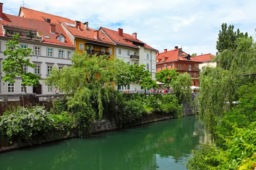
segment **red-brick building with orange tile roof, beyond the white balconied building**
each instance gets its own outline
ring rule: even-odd
[[[189,54],[182,51],[182,48],[175,47],[174,50],[167,51],[164,49],[163,53],[157,53],[157,72],[163,69],[176,69],[179,73],[188,72],[193,80],[193,85],[199,86],[199,62]]]

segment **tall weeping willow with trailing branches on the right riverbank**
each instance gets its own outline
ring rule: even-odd
[[[215,139],[216,117],[230,111],[237,101],[236,91],[241,85],[253,82],[256,76],[256,45],[253,39],[239,38],[235,49],[225,49],[217,55],[216,68],[207,66],[200,75],[199,118],[206,131]]]

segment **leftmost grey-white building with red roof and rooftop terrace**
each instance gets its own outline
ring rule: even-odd
[[[3,3],[0,3],[2,9]],[[3,11],[1,10],[0,11]],[[14,34],[20,34],[20,48],[31,48],[34,54],[29,59],[31,63],[36,64],[35,68],[24,66],[24,71],[31,72],[41,76],[40,85],[37,87],[27,87],[27,93],[53,94],[54,88],[47,87],[44,79],[49,76],[53,67],[62,69],[72,65],[71,57],[75,50],[73,43],[60,25],[50,23],[50,20],[37,21],[28,18],[18,17],[9,14],[0,13],[1,31],[0,31],[0,74],[2,72],[2,62],[7,58],[3,55],[6,50],[5,45],[12,39]],[[27,37],[28,31],[32,30],[35,38]],[[21,86],[21,78],[15,78],[15,83],[1,82],[0,92],[2,94],[20,94],[24,93]]]

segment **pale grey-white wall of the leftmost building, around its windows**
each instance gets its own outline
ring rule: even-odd
[[[3,55],[3,51],[6,50],[7,46],[4,45],[6,42],[8,42],[8,40],[1,39],[0,38],[0,62],[3,62],[7,56]],[[42,85],[42,94],[52,94],[52,92],[48,92],[47,91],[47,86],[44,85],[44,79],[47,78],[47,66],[51,65],[51,66],[55,66],[55,67],[59,67],[59,66],[67,66],[70,67],[72,65],[72,62],[70,59],[67,59],[67,51],[71,51],[71,56],[74,53],[74,48],[72,47],[66,47],[64,45],[52,45],[52,44],[47,44],[45,42],[33,42],[33,41],[29,41],[29,40],[20,40],[20,44],[22,45],[27,45],[28,48],[32,48],[32,51],[34,51],[34,47],[41,47],[41,51],[40,51],[40,55],[35,55],[32,54],[29,59],[31,63],[40,65],[40,74],[39,76],[41,76],[41,80],[40,80],[40,84]],[[47,57],[47,48],[52,48],[53,49],[53,57]],[[64,50],[64,58],[58,58],[58,50]],[[28,72],[31,73],[35,73],[34,68],[27,68]],[[2,72],[2,64],[0,64],[0,73]],[[4,76],[4,73],[2,72],[2,76]],[[5,85],[3,85],[3,82],[1,83],[1,93],[2,94],[6,94],[6,93],[10,93],[10,94],[17,94],[17,93],[21,93],[20,92],[20,85],[21,85],[21,79],[20,78],[16,78],[15,79],[15,91],[14,92],[8,92],[7,91],[7,85],[8,82],[5,82]],[[54,91],[54,89],[53,89]],[[32,87],[27,87],[27,93],[32,93]]]

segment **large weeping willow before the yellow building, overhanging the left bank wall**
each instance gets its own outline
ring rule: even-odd
[[[68,107],[74,111],[82,109],[83,112],[93,112],[93,117],[98,116],[100,121],[104,109],[102,84],[109,83],[111,86],[114,79],[113,70],[123,66],[118,65],[117,61],[109,59],[106,55],[74,53],[71,60],[73,62],[71,68],[64,67],[61,71],[53,68],[45,84],[54,86],[61,92],[73,94],[73,98],[67,102]],[[126,68],[128,70],[128,67]],[[127,73],[127,70],[122,70],[125,74]],[[108,85],[106,87],[108,88]],[[98,115],[93,111],[92,105],[98,108]]]

